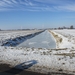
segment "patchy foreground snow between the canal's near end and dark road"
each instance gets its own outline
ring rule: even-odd
[[[67,53],[69,52],[66,50]],[[61,51],[64,53],[65,51]],[[26,65],[30,64],[26,63],[28,61],[34,60],[37,62],[32,67],[29,67],[28,70],[48,73],[48,72],[59,72],[59,69],[66,70],[66,72],[72,72],[75,70],[75,58],[71,59],[66,56],[57,56],[56,53],[60,53],[60,51],[55,50],[47,50],[47,49],[31,49],[31,48],[13,48],[13,47],[1,47],[0,48],[0,63],[11,64],[11,66],[20,69],[25,69]],[[60,59],[60,60],[59,60]],[[25,63],[24,63],[25,62]],[[24,63],[21,65],[21,63]],[[63,64],[64,63],[64,64]],[[25,65],[25,66],[24,66]],[[24,66],[24,67],[22,67]],[[70,68],[69,68],[70,67]],[[40,69],[40,70],[39,70]]]

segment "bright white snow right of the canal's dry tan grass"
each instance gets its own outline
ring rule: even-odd
[[[53,30],[53,32],[63,39],[59,48],[75,48],[75,30]]]

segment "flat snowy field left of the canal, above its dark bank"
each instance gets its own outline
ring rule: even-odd
[[[26,31],[0,31],[0,45],[8,41],[8,39],[13,39],[20,36],[26,36],[29,34],[34,34],[40,30],[26,30]]]

